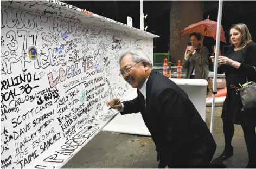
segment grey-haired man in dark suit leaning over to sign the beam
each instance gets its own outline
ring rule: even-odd
[[[122,115],[141,112],[156,145],[159,168],[207,168],[216,144],[188,95],[152,69],[141,50],[121,55],[120,73],[138,96],[114,106]],[[113,106],[118,98],[107,102]]]

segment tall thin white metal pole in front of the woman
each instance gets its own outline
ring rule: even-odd
[[[217,93],[217,70],[220,50],[220,32],[221,32],[221,16],[222,16],[222,0],[219,1],[218,19],[217,19],[217,37],[216,37],[216,52],[215,52],[215,63],[214,63],[214,76],[213,76],[213,102],[212,102],[212,114],[210,122],[210,132],[213,135],[214,128],[214,113],[215,113],[215,94]]]

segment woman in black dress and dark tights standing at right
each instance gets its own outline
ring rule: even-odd
[[[233,155],[231,140],[234,135],[234,124],[241,125],[249,155],[246,168],[256,168],[256,109],[241,111],[242,101],[236,89],[248,81],[256,82],[256,43],[245,24],[235,24],[229,30],[231,47],[227,57],[219,57],[218,74],[225,73],[227,96],[223,103],[222,115],[225,149],[220,158],[225,161]],[[214,56],[211,56],[214,62]]]

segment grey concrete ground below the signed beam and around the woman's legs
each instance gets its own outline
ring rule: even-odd
[[[210,126],[210,109],[207,107],[206,123]],[[225,146],[222,132],[222,107],[215,108],[214,139],[218,157]],[[137,140],[139,141],[131,141]],[[242,128],[235,125],[232,140],[234,155],[225,161],[227,168],[245,168],[247,148]],[[150,137],[101,131],[82,148],[63,168],[157,168],[155,145]]]

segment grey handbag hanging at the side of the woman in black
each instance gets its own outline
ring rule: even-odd
[[[255,67],[254,69],[256,71]],[[242,111],[256,108],[256,83],[255,82],[248,83],[248,79],[247,79],[247,85],[238,89],[238,91],[240,92],[242,105],[244,106],[242,108]]]

